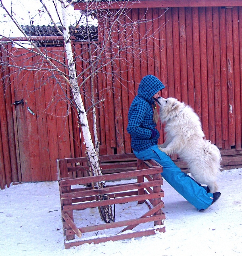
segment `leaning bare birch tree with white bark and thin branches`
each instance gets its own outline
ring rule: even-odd
[[[120,79],[120,72],[119,72],[119,65],[120,63],[124,62],[124,56],[126,55],[133,55],[134,58],[139,58],[139,55],[143,54],[145,51],[142,45],[147,44],[148,40],[153,40],[154,36],[158,33],[160,27],[163,27],[164,24],[161,24],[156,31],[153,31],[152,26],[147,30],[145,34],[137,35],[137,40],[135,41],[132,36],[133,34],[137,34],[137,27],[145,24],[147,21],[152,22],[152,17],[150,20],[147,20],[144,17],[141,19],[136,19],[132,21],[130,16],[127,16],[125,13],[125,5],[121,6],[119,10],[112,10],[112,9],[105,9],[101,10],[100,7],[98,8],[97,1],[97,8],[93,11],[89,9],[89,6],[95,1],[87,1],[87,7],[84,12],[81,14],[81,18],[76,21],[76,24],[72,25],[70,23],[70,8],[71,3],[74,1],[67,1],[67,0],[58,0],[61,3],[61,13],[58,12],[57,2],[52,0],[55,14],[57,14],[57,20],[53,18],[53,13],[48,9],[46,6],[47,0],[38,0],[41,2],[43,6],[43,10],[37,10],[37,13],[46,13],[53,27],[55,28],[56,33],[62,36],[64,40],[64,53],[66,56],[66,63],[62,61],[58,61],[57,58],[53,57],[50,51],[46,49],[42,49],[39,45],[39,39],[36,39],[36,36],[32,34],[32,21],[30,19],[30,23],[28,26],[26,24],[21,24],[21,18],[18,20],[14,15],[13,10],[8,9],[6,5],[3,3],[4,0],[0,0],[0,7],[5,11],[5,15],[7,15],[10,21],[18,28],[18,30],[22,33],[22,40],[26,40],[31,47],[24,46],[19,40],[16,38],[12,38],[10,36],[0,35],[4,38],[5,41],[11,42],[13,44],[19,45],[32,54],[35,54],[42,60],[43,63],[47,63],[45,66],[39,68],[39,71],[48,71],[52,74],[52,77],[56,79],[57,84],[60,84],[56,74],[62,77],[66,84],[70,87],[72,92],[71,104],[74,106],[78,112],[79,116],[79,125],[82,130],[82,135],[84,137],[85,146],[86,146],[86,154],[87,158],[90,163],[90,170],[91,175],[102,175],[100,166],[99,166],[99,140],[97,137],[97,121],[96,121],[96,105],[100,101],[96,101],[94,97],[94,80],[97,80],[98,73],[105,73],[107,79],[109,80],[108,83],[111,83],[115,80]],[[128,1],[126,1],[128,2]],[[99,21],[103,24],[103,27],[99,28],[101,31],[101,39],[98,42],[93,41],[93,32],[91,31],[91,27],[88,24],[87,18],[93,16],[95,14]],[[87,51],[85,53],[86,58],[82,58],[83,67],[81,73],[77,73],[76,66],[75,66],[75,56],[72,47],[72,38],[75,34],[76,30],[80,27],[81,21],[83,22],[82,17],[85,16],[86,18],[86,25],[85,25],[85,41],[87,42]],[[59,25],[61,24],[61,25]],[[72,26],[71,26],[72,25]],[[29,31],[27,31],[29,28]],[[126,36],[124,36],[126,35]],[[43,36],[44,38],[44,36]],[[43,41],[43,40],[42,40]],[[132,42],[132,43],[131,43]],[[152,41],[153,42],[153,41]],[[3,41],[2,41],[3,44]],[[153,43],[152,43],[153,44]],[[151,46],[150,51],[153,51],[153,46]],[[157,46],[159,47],[159,46]],[[93,50],[94,49],[94,50]],[[149,47],[148,49],[149,51]],[[94,53],[95,52],[95,53]],[[9,63],[1,61],[1,65],[9,65]],[[16,63],[13,64],[14,67],[18,67],[19,69],[26,69],[26,70],[37,70],[38,67],[23,67],[19,66]],[[67,72],[63,71],[61,67],[64,67]],[[64,69],[64,70],[65,70]],[[36,71],[36,72],[37,72]],[[82,79],[78,79],[82,78]],[[85,109],[82,96],[83,95],[83,87],[87,80],[91,81],[91,109],[93,113],[93,134],[94,134],[94,143],[92,141],[91,132],[90,132],[90,125],[87,119],[87,112],[88,110]],[[63,90],[63,88],[62,88]],[[67,97],[68,98],[68,97]],[[68,98],[68,100],[70,100]],[[105,181],[97,183],[98,187],[105,187]],[[108,195],[100,195],[100,200],[108,199]],[[99,209],[100,210],[100,209]],[[112,207],[110,205],[103,207],[101,209],[101,217],[105,222],[113,222],[114,221],[114,214]]]

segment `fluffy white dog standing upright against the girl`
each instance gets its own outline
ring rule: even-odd
[[[208,185],[210,192],[218,191],[216,180],[220,173],[219,149],[204,139],[201,122],[193,109],[174,98],[157,100],[160,120],[165,123],[165,143],[159,145],[167,155],[178,154],[187,162],[195,180]]]

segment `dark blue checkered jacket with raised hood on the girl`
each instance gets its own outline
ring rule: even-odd
[[[153,96],[164,88],[162,82],[153,75],[143,77],[139,84],[138,94],[129,109],[127,127],[131,135],[131,146],[135,151],[147,149],[158,143],[160,135],[153,121],[153,105],[155,104]],[[157,132],[153,139],[150,139],[150,129]]]

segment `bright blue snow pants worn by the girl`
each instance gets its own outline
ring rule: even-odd
[[[162,177],[198,210],[206,209],[212,204],[213,194],[207,193],[203,187],[199,186],[188,175],[181,172],[181,169],[176,166],[171,158],[159,150],[158,145],[141,151],[133,150],[133,152],[141,160],[154,159],[162,165]]]

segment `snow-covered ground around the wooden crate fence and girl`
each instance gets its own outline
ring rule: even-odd
[[[205,212],[198,212],[164,181],[162,189],[165,192],[163,198],[166,214],[165,233],[64,249],[58,183],[11,185],[0,191],[0,254],[5,256],[241,255],[242,168],[223,171],[219,179],[219,187],[220,199]],[[142,206],[145,207],[145,204]],[[124,207],[132,208],[135,205],[125,204]],[[80,212],[83,220],[90,219],[90,214],[94,214],[94,219],[100,219],[95,211]],[[122,214],[125,212],[123,211]]]

